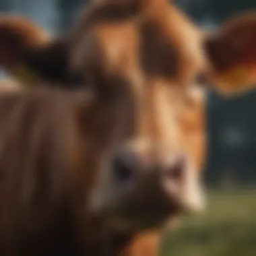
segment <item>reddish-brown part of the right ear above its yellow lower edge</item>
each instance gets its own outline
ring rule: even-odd
[[[241,15],[205,37],[205,51],[217,72],[256,67],[256,13]]]

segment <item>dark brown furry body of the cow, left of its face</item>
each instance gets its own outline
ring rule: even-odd
[[[88,95],[53,90],[0,94],[3,255],[80,255],[75,232],[81,225],[96,232],[86,234],[85,250],[94,248],[96,255],[104,251],[98,247],[104,241],[101,222],[93,220],[82,202],[102,148],[113,143],[112,129],[119,127],[121,137],[130,131],[118,125],[120,116],[113,115],[108,102],[101,102],[100,109],[96,102],[88,108]],[[111,125],[109,119],[98,119],[102,108],[106,117],[113,117]]]

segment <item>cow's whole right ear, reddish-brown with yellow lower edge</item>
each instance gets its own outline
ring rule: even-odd
[[[225,95],[241,94],[256,83],[256,13],[236,17],[205,36],[210,63],[207,82]]]

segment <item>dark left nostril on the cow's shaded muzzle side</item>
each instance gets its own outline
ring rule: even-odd
[[[113,174],[117,181],[126,183],[133,179],[137,163],[132,154],[121,154],[113,159]]]

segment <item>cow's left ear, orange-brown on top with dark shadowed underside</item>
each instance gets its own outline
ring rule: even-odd
[[[51,39],[42,28],[25,18],[0,18],[0,67],[24,86],[80,86],[82,80],[69,69],[67,38]]]

